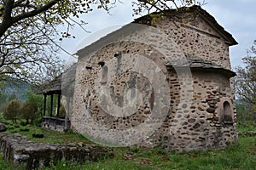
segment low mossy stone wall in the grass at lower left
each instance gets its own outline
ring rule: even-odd
[[[0,151],[14,169],[47,167],[58,161],[90,162],[113,156],[113,150],[83,144],[34,143],[20,134],[0,133]]]

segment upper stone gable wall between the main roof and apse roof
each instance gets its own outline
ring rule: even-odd
[[[229,44],[201,17],[174,21],[166,18],[154,26],[172,38],[186,57],[211,60],[231,70]]]

